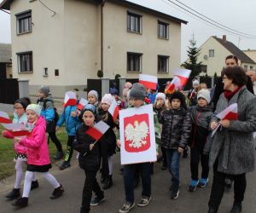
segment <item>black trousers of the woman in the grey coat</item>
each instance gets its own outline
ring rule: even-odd
[[[225,178],[227,175],[223,172],[217,170],[218,163],[213,166],[213,181],[212,181],[212,191],[210,195],[210,200],[208,202],[209,207],[214,210],[218,210],[218,206],[221,203],[221,199],[224,194]],[[244,193],[247,187],[246,173],[241,175],[231,176],[234,180],[234,202],[241,203],[244,199]]]

